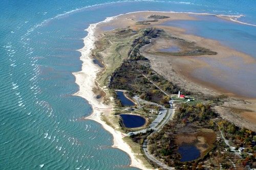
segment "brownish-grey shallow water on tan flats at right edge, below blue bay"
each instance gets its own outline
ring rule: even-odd
[[[256,98],[256,64],[250,63],[244,66],[241,58],[233,56],[229,59],[235,66],[227,66],[230,61],[216,61],[210,58],[201,58],[210,64],[213,69],[199,68],[193,72],[193,76],[200,80],[222,87],[224,90],[248,98]]]

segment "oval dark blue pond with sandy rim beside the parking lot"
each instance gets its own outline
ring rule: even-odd
[[[138,128],[145,124],[146,120],[138,115],[120,114],[123,124],[126,128]]]

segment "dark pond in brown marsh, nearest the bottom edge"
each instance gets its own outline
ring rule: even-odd
[[[192,144],[182,144],[178,152],[181,155],[181,162],[195,160],[200,157],[200,151]]]

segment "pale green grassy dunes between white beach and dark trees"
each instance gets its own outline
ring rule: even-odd
[[[139,32],[121,29],[105,32],[104,36],[96,42],[93,57],[105,65],[98,80],[101,87],[108,86],[111,75],[123,60],[127,59],[133,40],[139,36]]]

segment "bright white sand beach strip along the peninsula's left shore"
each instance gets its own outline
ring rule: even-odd
[[[106,18],[104,21],[101,22],[108,22],[113,18],[115,17]],[[120,149],[130,156],[130,166],[137,167],[140,169],[148,169],[143,165],[141,160],[135,158],[135,155],[132,152],[132,149],[129,146],[129,144],[123,141],[122,138],[126,136],[126,134],[114,130],[100,118],[102,112],[112,111],[112,106],[100,103],[95,98],[95,94],[93,92],[93,87],[95,87],[97,73],[100,71],[100,68],[93,63],[93,59],[91,58],[91,50],[95,48],[95,29],[97,25],[101,22],[90,25],[90,27],[86,30],[88,31],[88,35],[83,39],[84,44],[86,45],[84,45],[84,47],[79,50],[79,52],[81,52],[80,60],[83,62],[82,69],[81,71],[73,72],[73,75],[76,78],[75,82],[79,85],[79,91],[76,92],[74,95],[81,96],[89,102],[89,104],[92,106],[93,112],[90,116],[86,118],[95,120],[96,122],[100,123],[106,131],[110,132],[113,135],[112,147]]]

